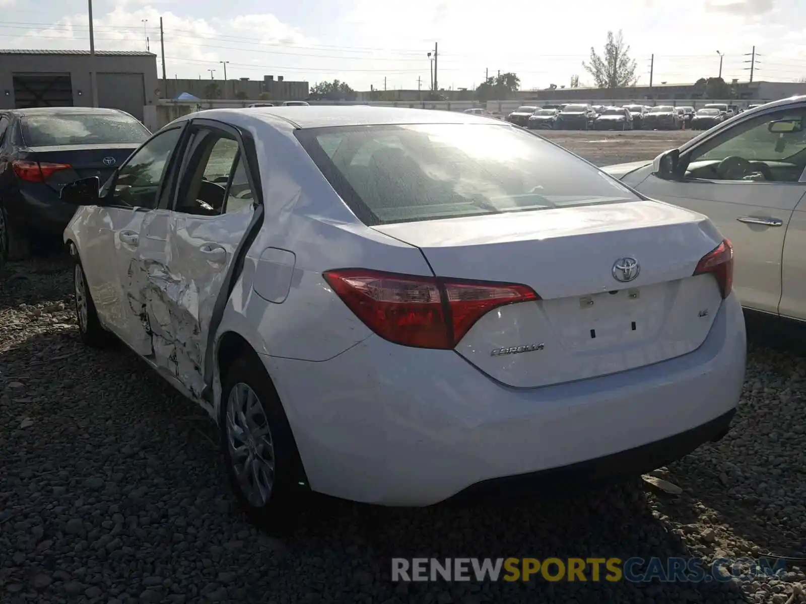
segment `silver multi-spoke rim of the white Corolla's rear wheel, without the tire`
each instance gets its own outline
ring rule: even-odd
[[[236,383],[226,400],[226,443],[243,496],[264,507],[274,488],[274,442],[268,418],[255,391]]]

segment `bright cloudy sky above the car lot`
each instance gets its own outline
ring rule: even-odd
[[[85,0],[0,0],[2,48],[89,48]],[[746,80],[753,45],[756,80],[806,77],[803,0],[95,0],[96,48],[159,54],[164,19],[168,77],[287,80],[339,78],[354,89],[427,89],[426,52],[439,43],[438,85],[472,87],[513,71],[524,89],[567,85],[591,46],[623,30],[640,83],[716,76]],[[143,23],[143,19],[147,19]],[[160,66],[161,69],[161,66]]]

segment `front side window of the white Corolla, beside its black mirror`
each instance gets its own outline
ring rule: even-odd
[[[113,177],[113,205],[156,208],[156,193],[179,143],[181,131],[181,128],[173,128],[157,134],[131,155]]]

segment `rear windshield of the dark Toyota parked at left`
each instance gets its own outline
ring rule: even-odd
[[[23,139],[31,147],[143,143],[151,133],[126,114],[27,115],[22,119]]]

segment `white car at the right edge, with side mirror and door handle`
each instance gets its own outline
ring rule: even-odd
[[[706,214],[736,249],[753,311],[806,321],[806,96],[717,124],[654,163],[604,168],[649,197]]]

